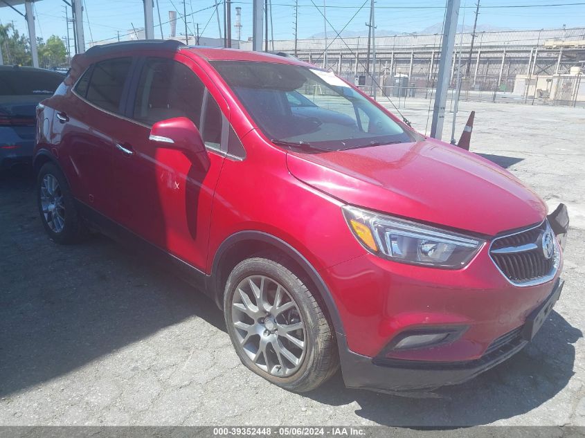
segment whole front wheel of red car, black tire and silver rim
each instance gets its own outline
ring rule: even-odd
[[[307,286],[283,264],[237,264],[224,293],[231,341],[246,367],[271,383],[307,392],[339,367],[330,323]]]

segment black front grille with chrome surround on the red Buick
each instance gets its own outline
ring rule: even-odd
[[[552,235],[554,251],[546,258],[543,250],[543,234],[550,232],[548,221],[541,225],[498,237],[489,248],[489,255],[496,266],[512,284],[531,285],[550,280],[555,275],[558,264],[556,238]]]

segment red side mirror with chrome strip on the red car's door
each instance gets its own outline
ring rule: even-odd
[[[156,122],[150,129],[148,139],[168,149],[183,149],[195,154],[205,152],[205,144],[199,129],[186,117]]]

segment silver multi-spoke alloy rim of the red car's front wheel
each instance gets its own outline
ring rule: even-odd
[[[237,285],[232,323],[246,356],[273,376],[296,372],[305,358],[305,322],[290,293],[264,275],[251,275]]]

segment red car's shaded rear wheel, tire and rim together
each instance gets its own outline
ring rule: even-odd
[[[37,175],[37,205],[45,231],[55,243],[76,244],[87,237],[69,184],[54,163],[45,163]]]

